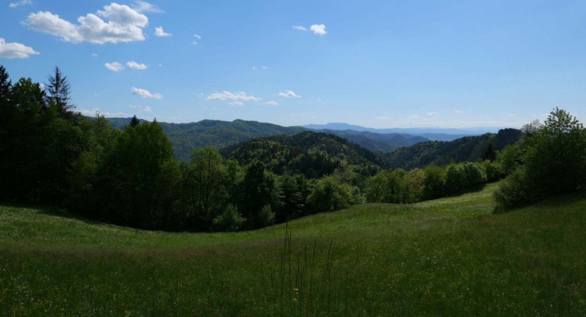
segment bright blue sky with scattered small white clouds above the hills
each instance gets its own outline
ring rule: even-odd
[[[88,115],[283,126],[584,120],[586,0],[0,1],[13,81]]]

